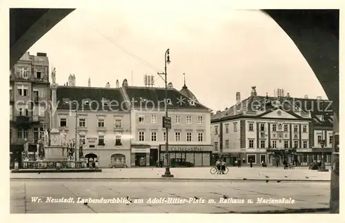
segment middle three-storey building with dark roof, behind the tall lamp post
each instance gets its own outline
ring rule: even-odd
[[[210,141],[210,110],[168,85],[168,99],[164,88],[128,86],[122,90],[130,101],[132,127],[132,166],[155,166],[165,161],[166,129],[162,119],[165,105],[172,127],[168,130],[170,164],[190,162],[195,166],[209,166],[213,146]]]

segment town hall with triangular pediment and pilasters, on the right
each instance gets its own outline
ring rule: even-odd
[[[237,104],[212,117],[214,151],[231,164],[238,159],[271,165],[284,159],[288,162],[298,159],[304,165],[320,160],[321,151],[315,151],[319,144],[314,135],[319,133],[315,126],[317,113],[311,109],[313,103],[317,101],[293,99],[289,95],[257,96],[255,87],[250,97],[243,101],[237,93]],[[331,126],[328,131],[325,134],[329,137]],[[325,148],[328,146],[331,148],[329,140]],[[330,151],[326,151],[326,162],[329,156]]]

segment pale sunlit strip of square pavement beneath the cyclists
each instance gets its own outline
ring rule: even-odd
[[[10,173],[11,180],[23,179],[72,179],[72,180],[145,180],[161,179],[165,168],[113,168],[103,169],[102,173]],[[311,171],[308,168],[295,168],[293,170],[284,170],[283,168],[236,168],[229,167],[226,175],[212,175],[210,167],[195,168],[171,168],[171,173],[177,180],[308,180],[308,181],[329,181],[330,172]]]

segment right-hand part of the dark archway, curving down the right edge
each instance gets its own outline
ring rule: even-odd
[[[264,10],[293,40],[333,101],[339,134],[339,10]],[[337,145],[334,144],[333,147]],[[335,153],[336,152],[336,153]],[[333,148],[332,162],[339,160]],[[331,173],[331,213],[339,213],[339,175]]]

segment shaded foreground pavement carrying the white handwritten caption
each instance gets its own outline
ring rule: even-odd
[[[329,195],[329,183],[99,181],[91,183],[27,180],[10,182],[10,213],[248,213],[320,209],[328,208]],[[113,197],[116,200],[117,197],[124,199],[127,196],[132,200],[128,205],[124,200],[117,204],[88,202],[84,205],[81,200],[102,197],[103,200]],[[35,197],[41,198],[42,202],[38,200],[34,202]],[[74,203],[46,202],[47,197],[53,199],[73,197]],[[169,204],[168,197],[175,200],[170,200]],[[222,197],[228,201],[227,204],[219,202]],[[257,199],[261,197],[264,199],[285,197],[287,200],[291,198],[295,203],[257,204]],[[149,198],[166,198],[166,202],[149,203]],[[248,199],[253,200],[253,204],[248,204]],[[204,204],[194,204],[203,201]],[[235,204],[235,201],[241,204]],[[185,203],[178,204],[179,202]]]

